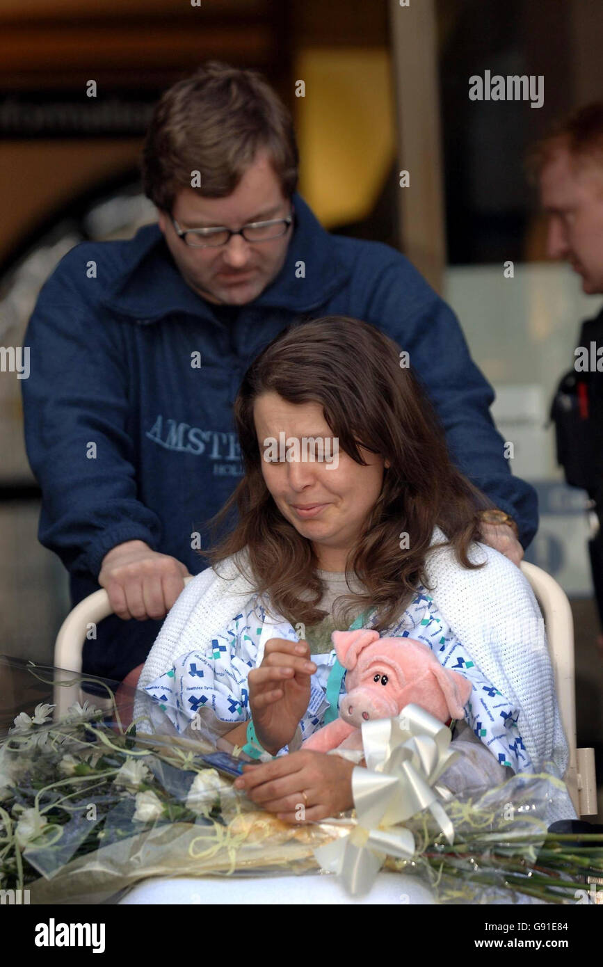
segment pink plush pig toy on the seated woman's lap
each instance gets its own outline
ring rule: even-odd
[[[378,631],[333,631],[337,658],[347,668],[347,693],[339,718],[314,732],[303,748],[362,747],[360,725],[370,718],[392,718],[414,702],[445,722],[465,718],[471,683],[444,668],[427,645],[414,638],[381,638]]]

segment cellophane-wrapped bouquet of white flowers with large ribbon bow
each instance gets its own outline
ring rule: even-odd
[[[43,678],[39,666],[29,673]],[[363,729],[356,810],[287,824],[208,767],[209,744],[125,728],[110,689],[107,699],[75,701],[57,720],[39,702],[0,740],[0,889],[28,890],[32,903],[98,903],[150,876],[323,870],[358,894],[385,865],[440,902],[573,903],[602,874],[603,835],[547,834],[560,781],[551,774],[446,796],[449,730],[416,706],[379,723],[379,741]],[[589,846],[577,850],[578,839]]]

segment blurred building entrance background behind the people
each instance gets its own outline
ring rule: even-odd
[[[528,558],[572,601],[579,745],[599,747],[587,499],[562,483],[548,412],[600,299],[546,261],[524,158],[554,119],[601,97],[601,49],[600,0],[0,0],[0,344],[22,345],[73,245],[156,219],[137,165],[161,91],[212,57],[264,72],[294,113],[300,190],[319,219],[402,249],[495,386],[513,471],[540,497]],[[469,77],[485,70],[543,74],[543,106],[470,102]],[[0,373],[0,652],[50,661],[67,579],[37,540],[19,389]]]

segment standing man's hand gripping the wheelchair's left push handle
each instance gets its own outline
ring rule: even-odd
[[[112,547],[102,559],[99,584],[113,611],[128,621],[164,618],[184,588],[188,571],[169,554],[151,550],[144,541]]]

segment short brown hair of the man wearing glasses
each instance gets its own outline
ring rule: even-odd
[[[223,198],[237,188],[258,149],[267,149],[283,194],[298,183],[299,154],[291,114],[256,71],[210,61],[158,101],[142,154],[145,194],[170,212],[179,190]]]

